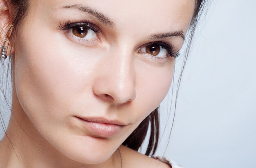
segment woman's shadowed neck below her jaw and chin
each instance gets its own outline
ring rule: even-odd
[[[6,135],[0,142],[0,165],[4,168],[120,168],[119,151],[106,161],[88,165],[65,157],[34,127],[20,105],[13,101]],[[16,107],[16,108],[14,108]],[[18,107],[18,108],[17,108]],[[16,120],[18,118],[19,120]]]

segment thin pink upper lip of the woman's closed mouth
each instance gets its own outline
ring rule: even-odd
[[[120,125],[120,126],[124,126],[124,125],[128,125],[125,124],[124,122],[121,122],[119,120],[108,120],[106,118],[101,118],[101,117],[81,117],[81,116],[75,116],[76,118],[85,120],[85,121],[89,121],[89,122],[97,122],[97,123],[101,123],[101,124],[116,124],[116,125]]]

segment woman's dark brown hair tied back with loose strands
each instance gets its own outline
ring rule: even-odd
[[[9,24],[10,26],[7,27],[6,37],[4,37],[5,39],[2,44],[2,46],[7,46],[7,48],[8,48],[10,42],[14,40],[14,37],[18,30],[18,27],[20,26],[20,24],[22,24],[22,20],[24,20],[24,18],[27,15],[27,12],[29,11],[29,0],[7,0],[7,3],[11,4],[11,7],[14,9],[13,13],[10,13],[13,20],[12,20],[11,24]],[[176,104],[177,104],[177,94],[178,94],[178,90],[180,88],[180,82],[182,79],[182,73],[184,71],[189,52],[191,50],[191,44],[193,41],[193,36],[195,34],[195,28],[196,28],[196,25],[198,24],[198,20],[199,20],[200,16],[202,15],[202,11],[204,11],[206,3],[207,3],[206,0],[195,0],[195,9],[194,9],[193,17],[191,20],[189,31],[186,35],[188,37],[188,41],[187,41],[187,46],[186,46],[185,53],[184,53],[184,63],[182,65],[182,70],[181,70],[180,76],[177,81],[177,88],[176,88],[177,92],[176,92],[176,96],[175,96],[175,107],[174,107],[175,109],[176,109]],[[5,25],[5,26],[8,26],[8,25]],[[10,40],[7,40],[7,35],[10,35]],[[0,39],[0,40],[2,40],[2,39]],[[8,43],[7,43],[7,41],[8,41]],[[6,43],[7,43],[7,45],[6,45]],[[11,49],[9,49],[9,50],[11,50]],[[8,63],[7,74],[6,74],[7,78],[8,78],[8,72],[9,72],[9,65],[11,65],[11,62],[12,62],[11,59],[14,59],[14,58],[9,57],[9,63]],[[4,66],[4,63],[2,63],[2,65]],[[12,72],[12,69],[11,69],[11,72]],[[5,100],[7,101],[6,94],[4,93],[3,88],[4,87],[1,88],[1,91],[4,95]],[[9,109],[11,110],[10,106],[9,106]],[[174,109],[174,116],[175,116],[175,109]],[[1,115],[2,114],[0,111],[0,116]],[[0,120],[0,121],[1,121],[1,124],[3,127],[2,120]],[[149,142],[148,142],[148,146],[147,146],[145,155],[154,155],[154,153],[157,149],[157,146],[158,146],[158,142],[159,142],[159,107],[157,107],[152,113],[150,113],[139,124],[139,126],[123,142],[123,145],[138,151],[146,138],[149,128],[150,128]],[[173,128],[173,125],[172,125],[171,129],[172,128]],[[5,130],[4,130],[4,132],[6,134]]]

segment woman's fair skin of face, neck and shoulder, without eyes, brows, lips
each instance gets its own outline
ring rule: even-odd
[[[90,13],[63,8],[72,4],[96,9],[114,24],[107,26]],[[4,136],[0,165],[121,167],[117,148],[161,103],[173,77],[174,58],[159,60],[142,48],[164,41],[180,50],[184,42],[180,36],[148,37],[186,33],[194,4],[191,0],[31,1],[12,43],[13,102],[7,135],[14,145]],[[97,39],[83,41],[59,28],[59,23],[84,19],[100,27]],[[115,135],[99,137],[74,116],[104,117],[125,126]],[[124,146],[121,150],[124,168],[168,167]]]

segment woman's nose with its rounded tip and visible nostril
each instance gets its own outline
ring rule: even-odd
[[[134,59],[127,52],[122,53],[101,60],[93,85],[96,96],[113,104],[124,104],[136,97]]]

